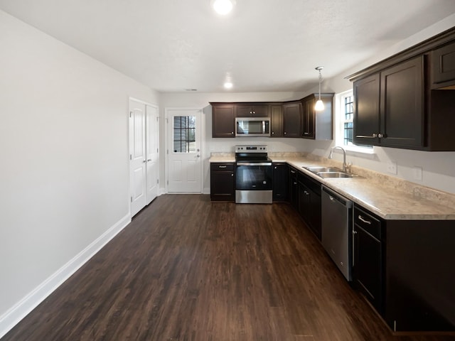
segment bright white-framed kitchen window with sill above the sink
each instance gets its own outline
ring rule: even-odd
[[[353,142],[354,136],[354,94],[348,90],[336,94],[336,146],[343,146],[348,151],[373,153],[372,146],[358,146]]]

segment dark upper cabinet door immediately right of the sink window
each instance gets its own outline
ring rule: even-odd
[[[379,143],[379,73],[354,82],[354,143]]]

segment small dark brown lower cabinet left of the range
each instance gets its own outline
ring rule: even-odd
[[[235,201],[234,163],[210,163],[210,200]]]

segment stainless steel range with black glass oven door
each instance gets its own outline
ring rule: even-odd
[[[272,203],[272,160],[267,146],[235,146],[235,202]]]

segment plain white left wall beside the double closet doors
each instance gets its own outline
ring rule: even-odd
[[[1,337],[129,222],[128,97],[158,94],[3,11],[0,46]]]

